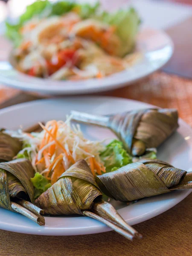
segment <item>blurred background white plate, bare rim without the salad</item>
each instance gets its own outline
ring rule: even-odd
[[[143,58],[128,70],[103,79],[84,81],[53,81],[33,78],[13,69],[9,62],[0,62],[0,82],[21,90],[44,94],[85,94],[123,87],[141,79],[162,67],[172,55],[173,43],[163,31],[142,29],[137,36],[137,49]]]

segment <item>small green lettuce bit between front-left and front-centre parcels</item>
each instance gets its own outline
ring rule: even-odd
[[[39,172],[35,173],[35,176],[31,178],[31,181],[35,188],[35,199],[51,186],[51,183],[49,183],[49,181]]]

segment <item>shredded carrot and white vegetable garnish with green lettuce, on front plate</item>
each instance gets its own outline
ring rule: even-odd
[[[50,120],[45,125],[39,125],[40,132],[25,132],[22,129],[3,131],[22,142],[23,147],[15,158],[26,158],[32,163],[35,197],[53,185],[78,160],[84,159],[94,176],[132,162],[122,142],[112,140],[105,145],[103,141],[87,140],[80,125],[71,123],[71,116],[65,122]]]

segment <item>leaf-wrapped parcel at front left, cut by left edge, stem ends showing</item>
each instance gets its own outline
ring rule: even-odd
[[[0,207],[18,212],[44,225],[44,211],[36,207],[30,178],[35,172],[29,160],[16,159],[0,163]]]

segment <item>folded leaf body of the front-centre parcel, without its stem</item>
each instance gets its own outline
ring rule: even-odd
[[[102,193],[87,163],[79,160],[41,194],[35,204],[50,215],[82,215],[81,210],[91,209],[96,198],[102,198]]]

